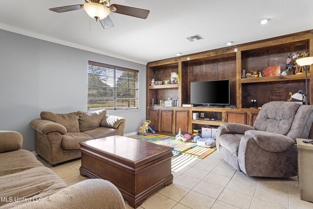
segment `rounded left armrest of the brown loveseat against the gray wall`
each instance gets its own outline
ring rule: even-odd
[[[63,125],[50,120],[34,119],[30,122],[30,125],[33,129],[42,134],[50,132],[59,132],[62,135],[67,134],[67,129]]]

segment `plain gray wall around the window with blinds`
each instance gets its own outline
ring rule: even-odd
[[[29,123],[41,111],[87,111],[89,60],[139,70],[140,110],[110,114],[126,118],[124,133],[137,131],[146,111],[144,65],[5,30],[0,30],[0,130],[20,132],[22,148],[34,151]]]

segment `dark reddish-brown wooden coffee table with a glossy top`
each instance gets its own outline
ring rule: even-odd
[[[121,136],[80,142],[80,175],[112,182],[130,206],[173,183],[173,148]]]

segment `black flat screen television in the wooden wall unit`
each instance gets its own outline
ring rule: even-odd
[[[229,105],[229,80],[190,83],[190,103]]]

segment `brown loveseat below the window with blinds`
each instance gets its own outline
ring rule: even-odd
[[[124,134],[125,119],[109,116],[106,110],[68,114],[42,112],[40,116],[41,119],[30,123],[35,129],[35,151],[53,166],[80,158],[81,141]]]

